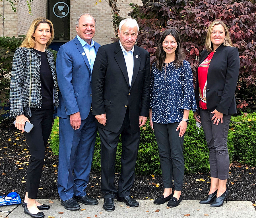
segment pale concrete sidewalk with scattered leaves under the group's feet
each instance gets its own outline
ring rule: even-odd
[[[49,204],[49,200],[38,200],[42,204]],[[138,200],[139,207],[127,207],[123,202],[115,200],[115,211],[107,212],[103,209],[104,200],[99,200],[99,204],[95,206],[87,206],[80,204],[81,209],[78,211],[66,210],[60,205],[60,200],[53,200],[49,210],[42,211],[45,217],[55,218],[94,218],[94,217],[111,217],[111,218],[148,218],[148,217],[161,217],[161,218],[179,218],[186,217],[185,214],[190,214],[191,218],[255,218],[256,211],[254,206],[249,201],[229,201],[222,207],[212,208],[209,205],[199,204],[199,201],[183,200],[178,207],[166,208],[166,204],[155,205],[150,200]],[[0,213],[0,217],[8,218],[29,218],[29,215],[24,214],[23,208],[20,205],[1,206],[1,210],[11,211],[11,213]],[[158,212],[156,212],[159,210]],[[64,213],[59,213],[64,212]]]

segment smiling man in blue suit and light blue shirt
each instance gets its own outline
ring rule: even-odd
[[[92,40],[96,21],[81,14],[77,36],[59,49],[56,60],[60,90],[58,192],[61,205],[78,210],[80,205],[98,204],[86,194],[97,134],[92,116],[92,68],[100,45]],[[73,173],[73,175],[72,175]]]

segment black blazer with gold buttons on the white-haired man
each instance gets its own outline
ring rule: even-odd
[[[92,70],[93,115],[106,113],[106,126],[98,127],[117,133],[129,107],[131,130],[139,131],[139,116],[148,117],[150,95],[150,56],[134,47],[134,67],[131,87],[123,51],[119,41],[99,48]]]

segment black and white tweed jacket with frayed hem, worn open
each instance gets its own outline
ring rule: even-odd
[[[31,66],[30,66],[31,53]],[[53,105],[59,105],[57,93],[56,69],[51,51],[46,50],[46,56],[53,76]],[[17,48],[13,57],[10,86],[10,116],[24,114],[23,107],[29,106],[30,69],[31,77],[31,108],[41,108],[42,92],[40,79],[41,57],[32,48]]]

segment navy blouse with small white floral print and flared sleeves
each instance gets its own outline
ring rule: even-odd
[[[190,64],[183,60],[183,66],[176,68],[174,62],[163,66],[162,71],[151,68],[150,107],[155,123],[176,123],[183,118],[183,111],[197,109],[193,76]]]

